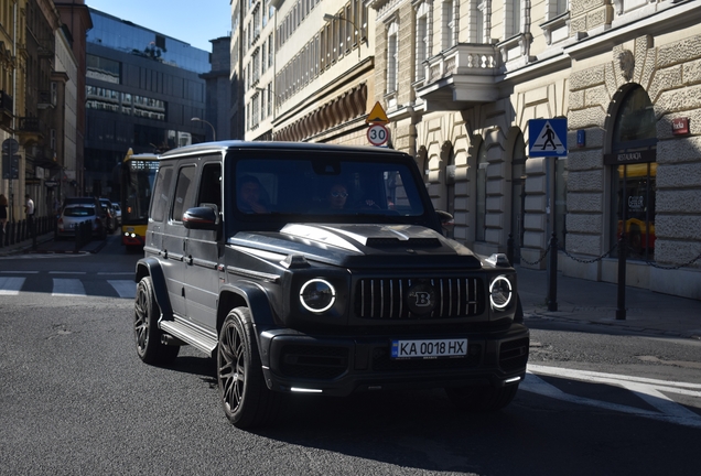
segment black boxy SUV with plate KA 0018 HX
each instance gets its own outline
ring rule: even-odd
[[[284,392],[445,388],[507,405],[529,333],[504,255],[445,238],[413,159],[379,148],[216,142],[161,156],[134,334],[149,364],[217,359],[227,418]]]

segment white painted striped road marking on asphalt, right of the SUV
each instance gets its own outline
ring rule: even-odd
[[[675,402],[662,393],[672,392],[701,398],[701,391],[695,390],[701,389],[701,385],[699,383],[675,382],[649,379],[644,377],[603,374],[587,370],[574,370],[568,368],[548,367],[530,364],[528,365],[527,371],[528,374],[526,375],[526,379],[519,388],[531,393],[538,393],[570,403],[585,404],[589,407],[634,414],[668,423],[701,428],[700,415]],[[638,396],[638,398],[657,409],[658,412],[569,394],[560,390],[559,388],[546,382],[536,374],[622,387],[634,392],[636,396]]]

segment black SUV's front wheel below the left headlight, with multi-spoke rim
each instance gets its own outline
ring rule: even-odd
[[[236,428],[261,426],[276,418],[281,394],[266,387],[247,307],[230,311],[219,331],[217,381],[224,413]]]

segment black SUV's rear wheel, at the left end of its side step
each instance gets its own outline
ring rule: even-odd
[[[159,328],[161,311],[153,294],[151,277],[143,277],[139,281],[133,307],[133,335],[139,358],[151,365],[172,363],[177,357],[180,346],[161,343],[162,333]]]

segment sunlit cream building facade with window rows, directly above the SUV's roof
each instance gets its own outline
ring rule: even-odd
[[[363,0],[240,1],[233,12],[247,140],[368,143],[375,19]]]

